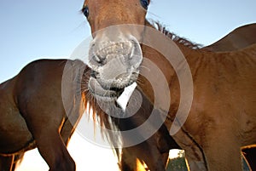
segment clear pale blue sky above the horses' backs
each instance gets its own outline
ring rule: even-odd
[[[83,0],[0,1],[0,83],[32,60],[68,58],[90,35]],[[255,0],[153,0],[148,18],[189,40],[210,44],[256,22]],[[113,9],[114,10],[114,9]]]

